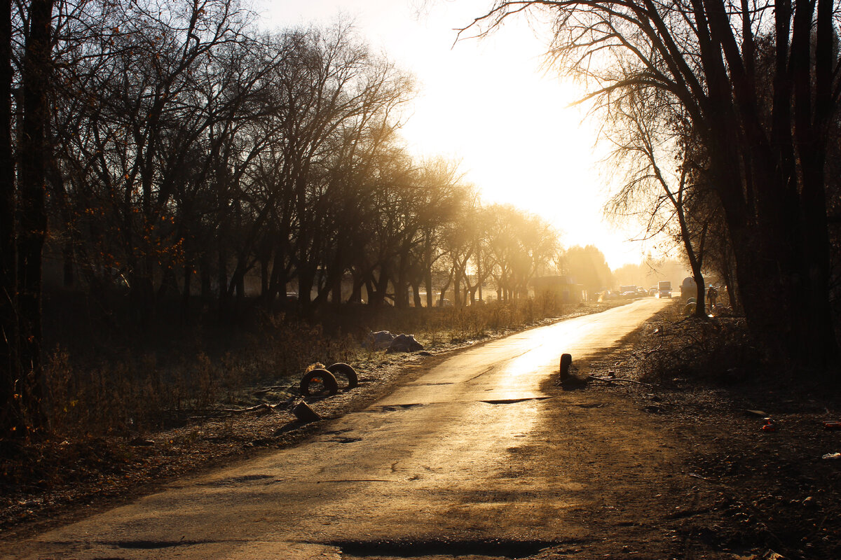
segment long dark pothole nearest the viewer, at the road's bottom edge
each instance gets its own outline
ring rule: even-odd
[[[516,560],[537,554],[544,548],[569,542],[487,540],[430,540],[430,541],[343,541],[328,543],[339,547],[342,556],[421,558],[429,556],[489,557]]]

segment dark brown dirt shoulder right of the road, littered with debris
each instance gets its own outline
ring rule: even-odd
[[[577,458],[564,468],[586,501],[570,519],[590,538],[534,558],[841,557],[841,460],[822,458],[841,451],[841,432],[822,427],[841,416],[838,395],[756,372],[635,383],[651,380],[659,329],[690,328],[668,315],[574,362],[579,378],[630,381],[547,382],[556,398],[542,437]]]

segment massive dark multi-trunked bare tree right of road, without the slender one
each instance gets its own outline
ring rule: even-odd
[[[650,88],[680,102],[738,239],[748,325],[769,353],[817,369],[835,363],[826,207],[828,131],[841,94],[834,3],[496,2],[473,26],[529,9],[553,17],[550,57],[583,76],[592,97],[609,103]],[[760,44],[769,67],[758,65]]]

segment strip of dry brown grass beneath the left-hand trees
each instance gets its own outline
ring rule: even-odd
[[[463,308],[351,308],[318,322],[262,316],[235,332],[191,327],[173,333],[168,327],[151,342],[125,338],[102,353],[95,344],[57,345],[45,364],[50,429],[55,437],[166,429],[214,407],[246,404],[256,386],[277,387],[272,395],[278,400],[294,397],[309,364],[370,362],[377,357],[365,345],[371,331],[414,334],[435,350],[576,311],[593,310],[549,298]]]

